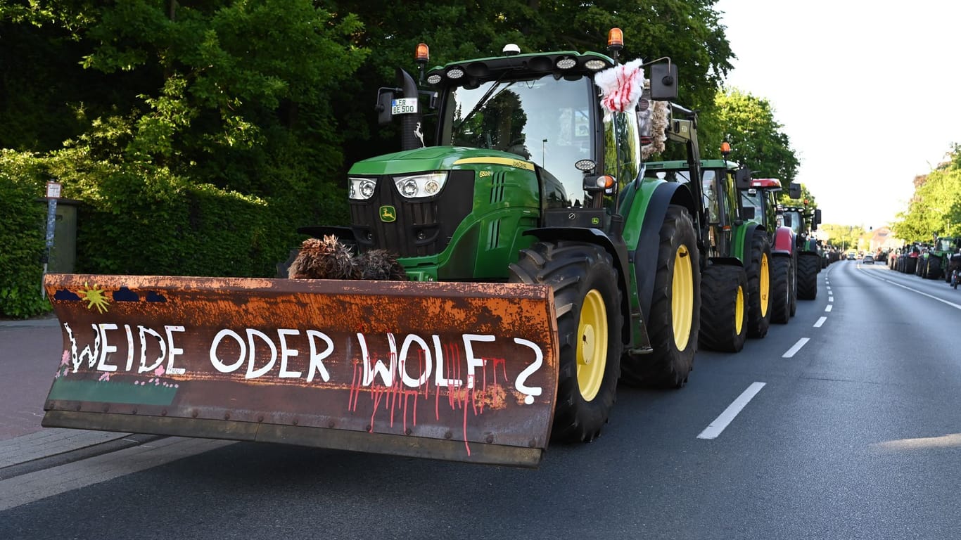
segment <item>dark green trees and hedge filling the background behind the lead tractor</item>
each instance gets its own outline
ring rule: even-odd
[[[54,177],[83,202],[78,270],[270,274],[297,227],[346,222],[350,163],[397,148],[375,95],[421,41],[433,65],[508,42],[604,52],[620,27],[622,60],[678,64],[719,143],[733,54],[714,2],[0,0],[0,164],[16,200]]]

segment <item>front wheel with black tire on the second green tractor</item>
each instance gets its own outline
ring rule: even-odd
[[[737,353],[748,336],[748,274],[740,265],[711,264],[701,274],[703,349]]]

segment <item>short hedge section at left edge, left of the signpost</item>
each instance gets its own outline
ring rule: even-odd
[[[49,309],[40,292],[44,183],[30,156],[0,153],[0,316],[25,318]]]

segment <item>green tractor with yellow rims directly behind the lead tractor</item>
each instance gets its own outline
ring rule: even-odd
[[[706,263],[701,277],[705,349],[738,352],[745,337],[764,337],[771,323],[771,244],[763,225],[742,214],[735,177],[750,174],[728,160],[701,161]],[[686,161],[647,163],[646,175],[689,182]]]

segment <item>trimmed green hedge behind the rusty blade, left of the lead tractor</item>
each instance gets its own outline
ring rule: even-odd
[[[274,277],[305,237],[297,227],[346,220],[346,189],[296,168],[269,197],[194,184],[153,165],[79,160],[69,149],[46,157],[0,153],[0,316],[49,308],[40,298],[47,178],[81,202],[75,271],[92,274]]]

